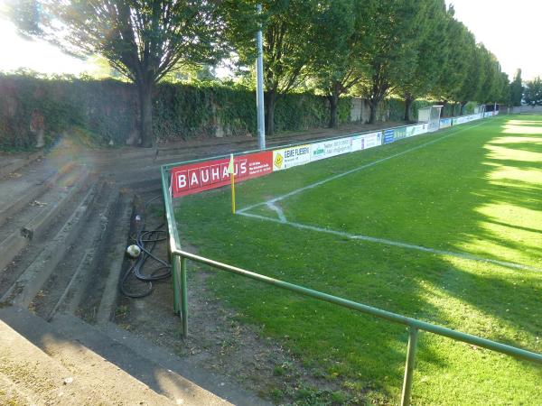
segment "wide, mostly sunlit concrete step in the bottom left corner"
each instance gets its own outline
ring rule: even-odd
[[[0,309],[0,335],[0,373],[19,397],[48,405],[175,404],[28,310]]]

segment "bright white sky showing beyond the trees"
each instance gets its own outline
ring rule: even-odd
[[[4,1],[0,0],[0,6]],[[456,18],[497,56],[510,79],[519,68],[524,79],[542,76],[542,0],[446,0],[446,4],[453,4]],[[1,15],[0,55],[4,71],[27,68],[79,75],[94,70],[91,63],[65,55],[46,42],[24,40]]]

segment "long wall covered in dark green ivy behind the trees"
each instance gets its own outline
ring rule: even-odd
[[[351,101],[341,98],[340,123],[350,122]],[[412,116],[428,105],[416,101]],[[164,83],[154,95],[154,136],[165,143],[256,134],[255,106],[255,92],[240,86]],[[403,115],[404,103],[396,99],[387,100],[378,112],[383,121],[402,121]],[[312,93],[288,94],[279,99],[275,119],[277,133],[324,127],[329,103]],[[2,150],[32,149],[40,132],[51,144],[73,129],[84,131],[94,143],[124,144],[137,141],[137,120],[135,89],[125,82],[0,74]]]

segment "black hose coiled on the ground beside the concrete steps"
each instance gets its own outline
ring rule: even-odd
[[[160,196],[156,196],[155,198],[151,198],[145,202],[145,208],[149,203],[157,198],[160,198]],[[153,292],[153,281],[162,281],[171,276],[172,270],[170,263],[165,262],[153,254],[154,247],[158,243],[167,240],[167,231],[161,229],[164,226],[165,225],[162,224],[153,230],[141,230],[137,233],[135,238],[132,238],[135,240],[135,245],[137,245],[141,250],[141,254],[139,254],[137,259],[135,259],[132,265],[120,278],[119,289],[126,297],[145,298],[145,296],[148,296]],[[154,268],[152,272],[145,273],[143,272],[143,267],[149,258],[154,260],[154,262],[157,262],[159,266]],[[145,282],[147,284],[146,291],[142,293],[128,291],[126,284],[131,277],[135,277],[135,279],[138,281]]]

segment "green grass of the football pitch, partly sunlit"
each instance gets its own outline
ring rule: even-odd
[[[288,221],[542,268],[542,116],[500,117],[238,185],[238,207],[443,138],[278,202]],[[259,206],[250,213],[276,214]],[[182,198],[200,254],[542,353],[542,272],[229,214],[229,189]],[[397,403],[406,329],[246,281],[210,279],[248,323],[366,401]],[[542,368],[423,333],[415,404],[537,404]]]

